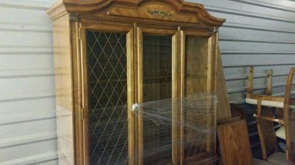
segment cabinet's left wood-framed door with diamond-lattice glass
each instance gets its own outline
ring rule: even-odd
[[[84,164],[128,165],[133,27],[82,24],[82,33]]]

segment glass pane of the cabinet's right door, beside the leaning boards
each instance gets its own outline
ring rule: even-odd
[[[207,93],[207,73],[208,72],[208,39],[186,37],[185,39],[185,79],[184,94],[206,94]],[[188,111],[187,111],[188,112]],[[188,125],[195,125],[200,130],[207,129],[206,111],[198,114],[184,114]],[[207,134],[190,130],[184,130],[184,156],[206,152]]]

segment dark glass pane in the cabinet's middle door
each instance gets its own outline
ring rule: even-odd
[[[143,51],[144,102],[171,98],[172,37],[144,35]],[[144,165],[172,163],[171,126],[144,119],[143,127]]]

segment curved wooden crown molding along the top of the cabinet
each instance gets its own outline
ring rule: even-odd
[[[195,15],[200,22],[211,27],[220,27],[226,21],[210,15],[202,4],[185,2],[184,0],[59,0],[47,13],[52,20],[55,20],[67,13],[75,15],[95,14],[112,6],[139,8],[150,2],[168,5],[179,15]],[[158,19],[173,17],[170,13],[157,9],[149,11],[148,14],[157,16]]]

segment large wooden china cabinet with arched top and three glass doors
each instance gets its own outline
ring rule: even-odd
[[[224,19],[183,0],[59,0],[48,14],[54,29],[59,165],[217,160],[215,133],[186,137],[190,130],[173,123],[153,131],[131,106],[214,93]],[[186,115],[173,109],[171,114],[172,122]],[[190,120],[216,126],[212,117]],[[161,137],[163,132],[168,136]],[[202,140],[187,144],[191,138]],[[166,142],[165,152],[150,156],[151,142]]]

